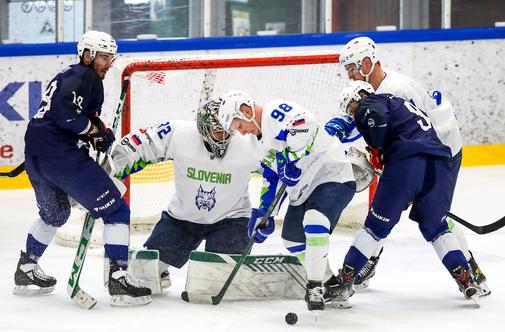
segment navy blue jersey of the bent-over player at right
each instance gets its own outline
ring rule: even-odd
[[[362,99],[355,120],[367,144],[381,151],[385,164],[417,154],[451,157],[451,150],[440,142],[428,116],[391,94]]]

